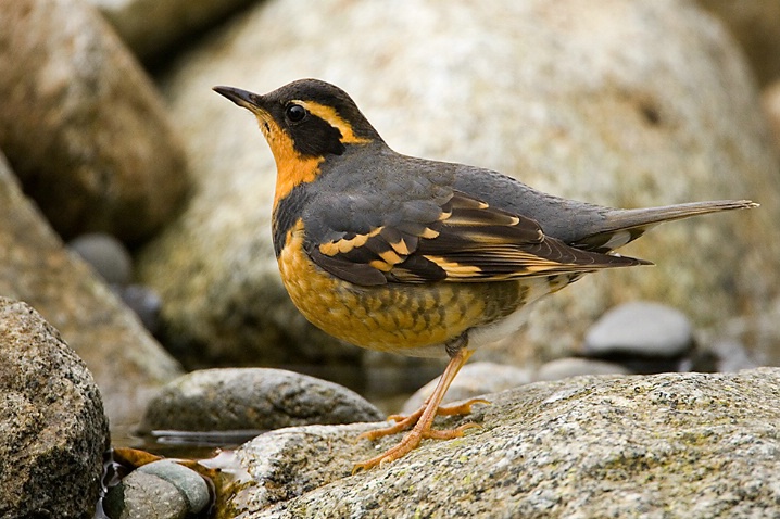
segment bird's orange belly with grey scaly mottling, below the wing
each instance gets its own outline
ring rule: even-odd
[[[516,282],[360,287],[319,268],[302,245],[299,220],[278,258],[292,302],[312,324],[357,346],[413,354],[500,319],[524,302]]]

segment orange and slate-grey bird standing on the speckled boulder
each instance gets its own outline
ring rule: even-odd
[[[540,298],[589,273],[650,265],[615,251],[657,224],[758,205],[624,210],[568,200],[494,170],[398,153],[345,91],[319,79],[265,94],[213,90],[255,116],[274,155],[274,251],[298,309],[357,346],[449,357],[419,409],[362,434],[407,431],[354,471],[400,459],[425,439],[478,427],[432,425],[437,415],[487,403],[441,405],[471,354],[517,331]]]

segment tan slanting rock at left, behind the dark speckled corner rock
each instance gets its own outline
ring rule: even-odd
[[[181,374],[92,269],[64,249],[2,155],[0,294],[29,303],[60,330],[98,382],[114,431],[137,423],[152,393]]]

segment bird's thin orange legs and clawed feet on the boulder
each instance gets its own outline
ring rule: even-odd
[[[426,400],[425,404],[423,404],[423,407],[420,407],[410,416],[403,418],[401,421],[397,422],[392,427],[380,429],[378,431],[364,432],[363,434],[361,434],[361,438],[375,440],[387,434],[393,434],[395,432],[408,429],[412,423],[415,423],[414,428],[410,432],[407,432],[405,436],[403,436],[403,440],[401,440],[401,443],[399,443],[398,445],[391,447],[379,456],[376,456],[367,461],[356,464],[353,472],[356,472],[358,470],[367,470],[372,467],[376,467],[377,465],[399,459],[410,453],[412,450],[416,448],[426,438],[431,438],[436,440],[449,440],[452,438],[462,436],[463,431],[465,431],[466,429],[479,427],[476,423],[465,423],[455,429],[450,429],[445,431],[431,430],[433,418],[436,418],[437,414],[452,415],[458,414],[455,412],[468,413],[470,412],[473,404],[478,402],[485,402],[479,398],[474,398],[473,401],[468,401],[465,404],[461,404],[457,406],[445,407],[443,409],[439,407],[439,404],[444,397],[444,394],[450,388],[450,384],[455,379],[455,376],[461,370],[463,365],[466,364],[466,360],[468,360],[468,357],[470,357],[473,353],[474,350],[468,350],[466,347],[466,340],[463,336],[458,338],[455,342],[453,342],[451,345],[448,345],[450,363],[446,365],[446,368],[444,369],[441,379],[439,379],[439,383],[436,385],[433,393],[428,397],[428,400]],[[439,413],[440,410],[443,412]]]

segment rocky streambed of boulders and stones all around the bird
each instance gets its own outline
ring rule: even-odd
[[[0,2],[0,517],[779,516],[778,56],[762,0]],[[541,302],[448,395],[488,395],[479,429],[352,474],[443,364],[338,343],[284,292],[271,154],[211,87],[300,77],[403,153],[762,206]],[[129,430],[241,445],[104,459]]]

